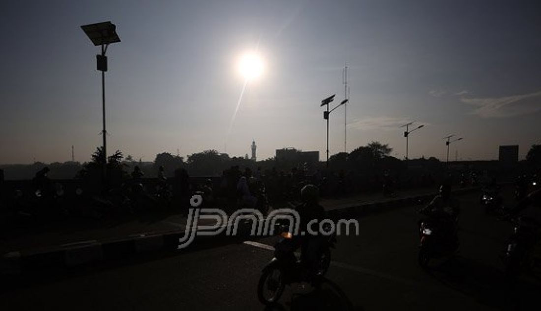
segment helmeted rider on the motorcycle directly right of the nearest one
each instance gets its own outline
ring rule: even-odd
[[[451,245],[458,246],[457,216],[460,214],[460,202],[451,196],[451,185],[444,184],[439,188],[439,194],[419,211],[436,222],[442,232],[442,237]]]

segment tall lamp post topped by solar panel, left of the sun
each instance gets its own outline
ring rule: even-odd
[[[96,55],[96,69],[102,72],[102,118],[103,118],[103,189],[107,189],[107,131],[105,130],[105,71],[107,71],[107,48],[109,44],[120,42],[116,33],[116,25],[111,22],[82,25],[81,29],[86,33],[95,46],[101,46],[101,54]]]

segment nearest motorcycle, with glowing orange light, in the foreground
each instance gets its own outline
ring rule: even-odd
[[[280,230],[280,240],[276,242],[274,258],[263,268],[258,282],[258,299],[264,305],[276,303],[286,285],[293,283],[311,282],[318,288],[324,275],[331,265],[331,248],[337,242],[335,234],[322,238],[316,262],[317,269],[307,272],[305,264],[294,253],[298,237],[291,232]],[[328,232],[328,231],[327,231]]]

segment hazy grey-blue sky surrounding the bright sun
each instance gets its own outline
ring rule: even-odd
[[[225,151],[244,84],[239,57],[265,63],[250,81],[227,153],[319,150],[321,99],[344,98],[348,151],[379,140],[403,157],[495,159],[498,145],[541,143],[538,1],[4,1],[0,13],[0,163],[85,161],[101,145],[101,79],[80,25],[111,21],[108,150],[154,160]],[[344,151],[344,107],[331,114],[331,154]]]

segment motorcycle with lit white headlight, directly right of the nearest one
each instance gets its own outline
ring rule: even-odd
[[[421,267],[427,268],[428,262],[433,258],[450,257],[458,251],[458,216],[451,220],[453,224],[448,224],[448,221],[448,217],[436,214],[419,221],[418,262]],[[452,227],[454,232],[448,232],[445,227]]]

